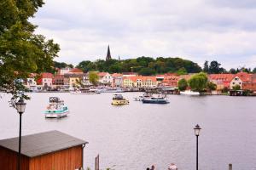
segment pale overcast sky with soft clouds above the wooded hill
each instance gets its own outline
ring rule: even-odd
[[[44,0],[32,22],[63,61],[138,56],[256,67],[255,0]]]

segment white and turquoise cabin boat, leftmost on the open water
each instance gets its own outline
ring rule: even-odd
[[[50,97],[49,105],[44,111],[45,118],[61,118],[67,116],[69,110],[67,105],[64,105],[64,101],[58,97]]]

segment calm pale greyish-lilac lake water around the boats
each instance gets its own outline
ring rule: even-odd
[[[102,169],[143,170],[154,164],[166,170],[195,169],[194,127],[201,126],[199,169],[256,170],[256,98],[230,96],[168,96],[170,104],[133,101],[140,93],[125,93],[130,105],[110,105],[113,94],[30,94],[22,116],[22,134],[59,130],[88,141],[84,167],[94,168],[100,154]],[[19,134],[19,116],[1,94],[0,139]],[[45,119],[50,96],[64,99],[70,115]]]

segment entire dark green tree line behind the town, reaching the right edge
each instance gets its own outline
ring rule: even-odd
[[[68,65],[64,62],[54,62],[55,68],[73,68],[73,65]],[[140,75],[149,76],[162,73],[177,73],[177,75],[185,75],[188,73],[206,72],[207,74],[219,74],[219,73],[231,73],[248,72],[256,73],[256,67],[254,69],[241,67],[231,68],[229,71],[221,67],[221,64],[217,60],[212,60],[204,63],[203,68],[197,65],[195,62],[188,59],[181,58],[151,58],[151,57],[138,57],[137,59],[97,59],[96,61],[84,60],[75,66],[84,72],[88,71],[106,71],[109,73],[121,73],[121,72],[138,72]],[[51,71],[52,72],[52,71]]]

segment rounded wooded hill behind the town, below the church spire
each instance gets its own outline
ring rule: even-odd
[[[109,73],[138,72],[140,75],[149,76],[161,73],[177,73],[184,75],[201,71],[201,67],[188,59],[151,57],[138,57],[137,59],[97,59],[96,61],[84,60],[76,65],[84,72],[107,71]]]

